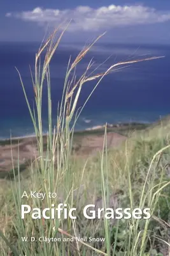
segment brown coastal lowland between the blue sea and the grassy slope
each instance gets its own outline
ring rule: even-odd
[[[107,124],[108,148],[117,148],[127,139],[130,131],[146,128],[146,124],[124,123]],[[73,154],[74,156],[94,156],[103,149],[105,125],[90,127],[88,130],[74,131]],[[29,166],[30,159],[38,157],[37,139],[35,134],[17,136],[0,140],[0,179],[13,175],[13,166],[18,173],[18,147],[20,148],[20,170],[24,171]],[[43,134],[43,147],[46,150],[47,138]],[[11,165],[11,150],[13,151],[13,166]],[[9,176],[10,175],[10,176]]]

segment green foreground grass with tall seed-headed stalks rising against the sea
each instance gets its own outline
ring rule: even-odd
[[[39,156],[31,162],[27,179],[20,172],[18,161],[17,173],[13,166],[13,180],[1,181],[1,255],[167,255],[170,246],[168,129],[165,132],[161,125],[157,125],[146,132],[136,131],[122,147],[108,150],[106,143],[108,131],[105,128],[103,150],[99,154],[88,159],[73,154],[74,125],[83,109],[77,111],[76,104],[85,83],[98,79],[94,87],[96,89],[103,77],[114,72],[115,68],[139,61],[154,60],[157,57],[116,63],[102,74],[92,72],[89,75],[89,70],[92,68],[90,61],[87,70],[77,79],[76,66],[101,37],[99,36],[92,44],[85,47],[75,60],[72,61],[70,58],[63,96],[56,117],[56,127],[52,127],[49,65],[63,33],[64,31],[56,38],[58,31],[54,31],[36,54],[35,76],[32,75],[36,102],[34,110],[29,104],[24,82],[18,72],[36,133]],[[43,141],[41,119],[45,79],[48,89],[46,146]],[[18,159],[19,157],[18,150]],[[24,191],[27,192],[28,197],[22,197]],[[57,197],[46,196],[44,200],[38,200],[31,198],[31,191],[43,192],[46,195],[55,192]],[[71,218],[65,220],[63,216],[61,219],[33,220],[31,214],[27,214],[24,220],[21,218],[21,205],[44,209],[51,208],[52,204],[57,207],[60,202],[67,204],[69,208],[76,207],[76,220]],[[131,209],[149,207],[152,218],[88,220],[84,218],[82,209],[85,205],[93,203],[96,207],[113,209],[118,205]],[[79,236],[104,237],[105,241],[79,242],[74,238]],[[37,242],[25,242],[22,241],[22,237],[36,237]],[[39,241],[39,237],[55,237],[61,241],[46,243]],[[63,241],[68,238],[72,238],[73,242]]]

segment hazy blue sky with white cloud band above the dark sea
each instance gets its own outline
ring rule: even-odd
[[[5,0],[0,41],[41,41],[60,25],[66,42],[83,42],[106,31],[104,42],[169,44],[169,0]]]

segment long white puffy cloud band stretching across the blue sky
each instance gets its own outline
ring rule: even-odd
[[[96,9],[89,6],[78,6],[66,10],[37,7],[27,12],[6,13],[6,17],[15,17],[40,25],[48,24],[52,27],[71,20],[69,26],[71,31],[97,31],[118,26],[166,22],[170,20],[170,10],[160,12],[142,5],[116,6],[114,4]]]

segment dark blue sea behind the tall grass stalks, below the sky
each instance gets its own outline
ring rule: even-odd
[[[57,104],[61,99],[69,57],[76,58],[81,44],[61,44],[50,65],[53,124]],[[25,102],[18,68],[24,81],[31,106],[34,93],[30,68],[34,68],[38,43],[0,43],[0,138],[34,134]],[[77,130],[105,122],[154,122],[170,113],[170,45],[96,44],[76,70],[79,77],[93,58],[97,72],[125,60],[165,56],[159,60],[144,61],[122,68],[104,77],[78,119]],[[108,59],[108,60],[107,60]],[[106,61],[107,60],[107,61]],[[96,81],[83,86],[78,107],[83,106]],[[43,99],[43,129],[48,129],[46,88]]]

